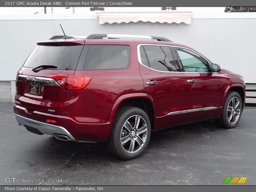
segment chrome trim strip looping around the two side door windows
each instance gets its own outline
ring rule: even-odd
[[[179,48],[182,48],[182,49],[188,49],[192,52],[195,52],[196,54],[200,55],[202,58],[204,58],[210,65],[212,65],[212,63],[207,60],[203,55],[201,55],[200,53],[192,50],[192,49],[189,49],[189,48],[186,48],[186,47],[182,47],[182,46],[175,46],[175,45],[164,45],[164,44],[138,44],[137,45],[137,55],[138,55],[138,60],[139,60],[139,63],[141,65],[143,65],[142,61],[141,61],[141,58],[140,58],[140,46],[143,46],[143,45],[150,45],[150,46],[167,46],[167,47],[179,47]],[[159,71],[159,70],[156,70],[156,69],[153,69],[153,68],[150,68],[146,65],[143,65],[144,67],[146,68],[149,68],[153,71],[157,71],[157,72],[164,72],[164,73],[211,73],[211,72],[182,72],[182,71]],[[214,72],[214,73],[217,73],[217,72]]]

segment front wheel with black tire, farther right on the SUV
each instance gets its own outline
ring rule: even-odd
[[[220,118],[216,119],[217,124],[225,129],[234,128],[241,118],[242,108],[241,96],[234,91],[228,92]]]

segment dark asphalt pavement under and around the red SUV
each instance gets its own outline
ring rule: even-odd
[[[229,130],[211,120],[155,132],[142,156],[124,161],[105,143],[28,132],[12,105],[0,103],[0,185],[223,185],[236,176],[248,177],[236,185],[256,184],[256,108]]]

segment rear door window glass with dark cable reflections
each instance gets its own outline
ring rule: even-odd
[[[148,57],[149,68],[158,71],[177,71],[170,47],[144,45],[144,49]]]

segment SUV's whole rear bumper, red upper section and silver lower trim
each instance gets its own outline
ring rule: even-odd
[[[16,104],[13,105],[13,108],[16,120],[28,131],[39,135],[65,135],[68,140],[106,141],[113,123],[113,120],[109,120],[107,123],[80,123],[68,116],[52,115],[39,111],[27,112],[26,108]],[[46,122],[47,119],[55,120],[57,123],[48,123]]]

